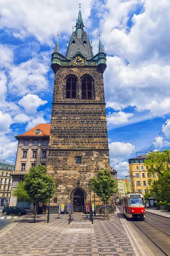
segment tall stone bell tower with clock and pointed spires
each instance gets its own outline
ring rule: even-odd
[[[55,77],[47,170],[56,182],[57,204],[72,199],[75,212],[84,211],[89,181],[99,170],[110,169],[103,84],[106,54],[99,37],[94,56],[84,27],[79,9],[65,56],[57,37],[51,58]]]

